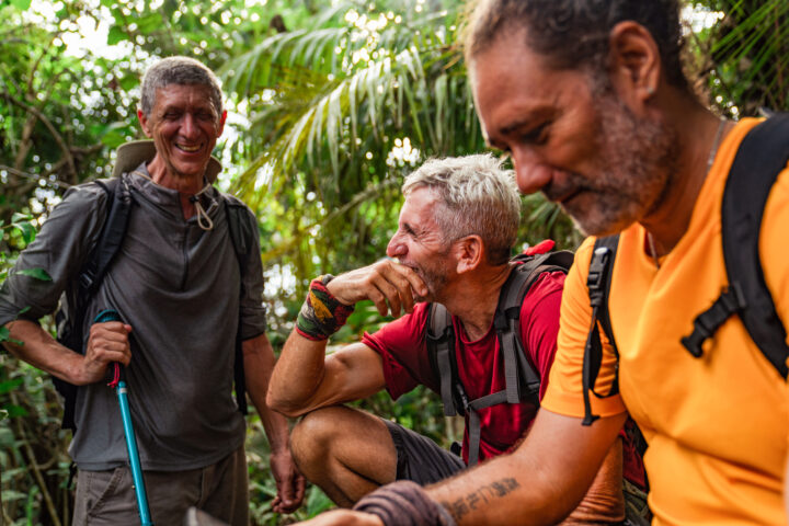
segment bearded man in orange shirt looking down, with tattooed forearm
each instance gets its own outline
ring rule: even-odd
[[[739,316],[700,358],[681,343],[728,285],[723,187],[757,122],[723,121],[695,96],[678,12],[670,0],[483,0],[468,32],[482,128],[512,156],[521,190],[541,191],[590,236],[620,232],[608,297],[620,393],[591,397],[599,419],[581,425],[590,239],[567,278],[550,387],[522,446],[426,491],[384,487],[357,504],[366,513],[313,524],[450,524],[442,507],[457,524],[553,524],[583,495],[627,411],[649,442],[654,524],[786,524],[785,379]],[[788,178],[785,168],[758,245],[785,325]],[[616,362],[604,355],[596,392],[608,392]]]

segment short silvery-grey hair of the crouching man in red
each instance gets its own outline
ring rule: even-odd
[[[405,178],[403,195],[421,187],[436,193],[434,218],[446,243],[477,235],[488,262],[510,259],[521,222],[521,197],[512,170],[490,153],[431,159]]]

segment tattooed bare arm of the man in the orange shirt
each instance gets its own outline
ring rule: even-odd
[[[427,493],[458,525],[556,524],[581,502],[625,419],[582,426],[581,419],[541,409],[514,453],[432,485]]]

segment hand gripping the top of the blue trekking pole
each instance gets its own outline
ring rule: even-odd
[[[129,364],[132,361],[129,332],[132,332],[132,325],[119,321],[107,321],[91,325],[80,370],[80,384],[93,384],[103,380],[106,367],[112,362],[118,362],[123,365]]]

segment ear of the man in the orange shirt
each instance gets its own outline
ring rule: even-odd
[[[608,46],[611,85],[630,110],[641,114],[660,87],[658,44],[643,25],[625,21],[610,31]]]

